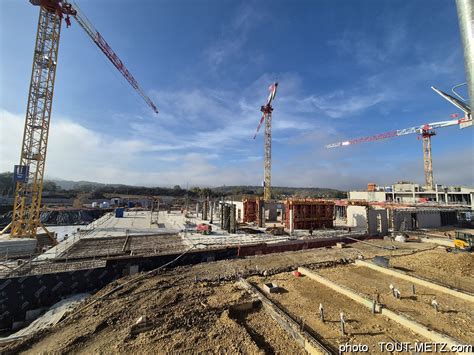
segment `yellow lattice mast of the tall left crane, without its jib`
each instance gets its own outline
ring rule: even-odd
[[[40,225],[44,163],[61,20],[63,13],[68,12],[68,8],[40,7],[20,164],[15,167],[14,173],[13,236],[35,236]]]

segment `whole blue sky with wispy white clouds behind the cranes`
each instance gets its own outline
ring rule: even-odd
[[[268,86],[273,184],[423,182],[416,136],[325,144],[460,113],[454,1],[76,1],[160,110],[154,115],[77,23],[63,25],[46,175],[136,185],[260,185],[253,134]],[[20,152],[38,8],[0,3],[0,171]],[[472,129],[433,138],[434,178],[474,185]]]

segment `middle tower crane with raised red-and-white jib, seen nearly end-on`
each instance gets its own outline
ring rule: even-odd
[[[257,127],[257,131],[253,136],[253,139],[257,137],[257,133],[260,130],[260,127],[265,121],[265,134],[264,134],[264,181],[263,181],[263,199],[264,201],[271,200],[272,198],[272,102],[275,99],[276,91],[278,88],[278,82],[274,82],[268,90],[270,93],[268,94],[267,103],[260,107],[260,111],[262,111],[262,118]]]

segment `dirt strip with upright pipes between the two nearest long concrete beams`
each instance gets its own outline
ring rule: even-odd
[[[380,314],[372,314],[370,309],[308,277],[282,273],[266,279],[253,277],[250,281],[260,287],[265,282],[276,283],[282,291],[272,293],[269,298],[283,306],[293,318],[304,322],[306,327],[319,334],[323,342],[333,349],[337,350],[340,344],[351,343],[366,344],[370,352],[379,352],[378,342],[427,341]],[[324,307],[324,322],[319,318],[319,304]],[[347,335],[342,335],[340,330],[340,312],[344,312],[347,319]]]

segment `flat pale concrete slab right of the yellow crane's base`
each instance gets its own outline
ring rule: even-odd
[[[218,219],[215,218],[217,221]],[[196,232],[196,226],[200,223],[210,224],[212,226],[212,233],[203,235]],[[264,231],[264,229],[260,229]],[[138,239],[143,238],[143,243],[146,243],[146,237],[150,237],[150,242],[156,244],[156,251],[154,253],[162,253],[166,250],[176,250],[182,247],[194,247],[196,249],[221,248],[229,246],[240,245],[255,245],[265,243],[275,244],[286,242],[295,239],[319,239],[331,238],[352,235],[344,230],[315,230],[310,236],[308,231],[296,231],[293,236],[289,235],[272,235],[267,233],[249,234],[248,232],[228,233],[220,228],[218,223],[209,223],[209,221],[202,220],[199,216],[191,213],[181,213],[180,211],[161,211],[159,213],[151,213],[151,211],[126,211],[123,218],[117,218],[113,213],[108,213],[94,221],[93,223],[83,226],[79,231],[73,232],[67,239],[61,241],[58,245],[47,250],[45,253],[38,256],[35,261],[48,260],[59,257],[69,257],[72,254],[78,254],[81,246],[89,251],[86,253],[88,257],[93,257],[93,250],[91,245],[96,244],[97,250],[105,248],[108,252],[102,250],[97,253],[97,256],[119,255],[125,251],[130,253],[136,251],[137,248],[133,244]],[[177,236],[178,240],[167,238],[166,235]],[[152,240],[156,236],[163,240]],[[114,241],[113,239],[125,238],[123,242]],[[126,243],[125,240],[130,238],[131,242]],[[100,242],[100,240],[104,242]],[[120,248],[116,244],[120,244]],[[142,244],[143,244],[142,243]],[[114,251],[115,249],[118,251]],[[124,248],[126,250],[124,250]],[[138,248],[140,249],[140,248]],[[144,250],[144,248],[141,248]],[[145,248],[146,249],[146,248]],[[151,249],[152,251],[154,250]],[[74,253],[72,251],[75,251]],[[81,253],[79,253],[81,254]]]

